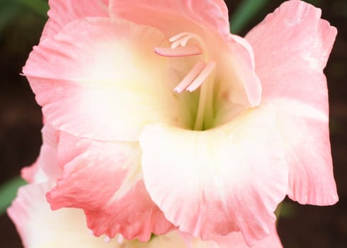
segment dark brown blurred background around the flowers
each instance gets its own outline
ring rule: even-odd
[[[86,0],[88,1],[88,0]],[[174,1],[174,0],[173,0]],[[227,1],[232,31],[245,35],[283,1]],[[331,149],[340,201],[317,207],[285,199],[278,232],[285,248],[347,247],[347,0],[316,0],[322,17],[339,34],[325,69],[329,87]],[[41,145],[41,112],[20,75],[47,20],[45,0],[0,0],[0,194],[13,197],[22,181],[11,181],[32,164]],[[309,134],[308,134],[309,135]],[[5,193],[4,193],[5,192]],[[1,198],[0,210],[6,207]],[[21,248],[16,228],[0,211],[0,247]]]

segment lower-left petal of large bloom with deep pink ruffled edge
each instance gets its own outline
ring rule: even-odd
[[[52,209],[82,208],[93,234],[147,241],[172,225],[144,188],[136,142],[101,142],[62,133],[64,175],[47,193]]]

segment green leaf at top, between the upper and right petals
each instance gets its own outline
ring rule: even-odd
[[[269,0],[244,0],[237,6],[230,19],[232,33],[240,33],[241,30],[263,9]]]

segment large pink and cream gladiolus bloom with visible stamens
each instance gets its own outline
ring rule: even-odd
[[[288,195],[338,201],[322,72],[336,28],[292,0],[241,38],[221,0],[50,1],[23,68],[59,130],[52,209],[96,236],[271,232]]]

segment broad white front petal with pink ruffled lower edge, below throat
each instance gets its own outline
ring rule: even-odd
[[[179,230],[195,237],[270,232],[288,191],[288,169],[271,106],[203,132],[156,124],[140,137],[144,184]]]

